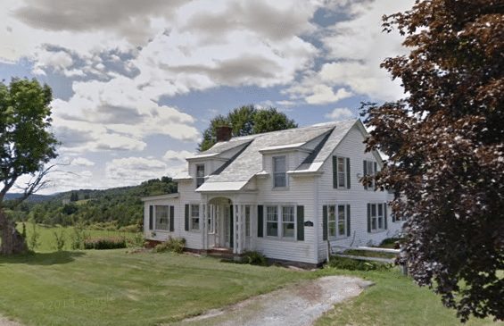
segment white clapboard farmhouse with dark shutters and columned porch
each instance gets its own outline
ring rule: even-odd
[[[177,194],[143,198],[145,238],[309,264],[326,260],[327,241],[379,244],[401,222],[391,194],[359,183],[382,166],[365,153],[366,135],[352,120],[219,141],[186,158]]]

